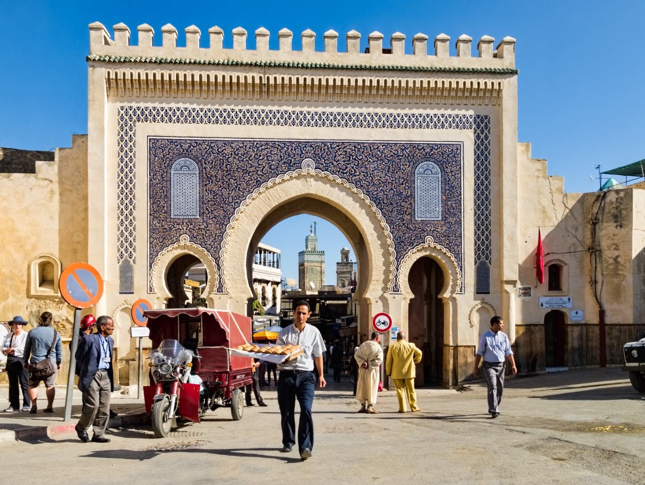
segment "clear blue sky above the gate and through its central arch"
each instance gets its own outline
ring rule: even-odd
[[[279,2],[132,2],[0,0],[0,146],[48,150],[68,147],[74,133],[87,132],[88,24],[99,21],[112,34],[123,22],[136,32],[148,23],[161,43],[161,26],[179,30],[197,25],[207,39],[208,28],[250,33],[264,26],[277,48],[277,32],[316,32],[317,50],[330,28],[341,39],[354,29],[362,34],[361,50],[370,32],[406,35],[422,32],[434,39],[451,37],[451,54],[461,34],[517,39],[519,69],[519,141],[532,144],[533,158],[548,160],[550,175],[564,176],[568,192],[597,190],[596,165],[602,170],[645,158],[645,79],[642,28],[645,2],[597,0],[560,1],[432,1],[306,3]],[[133,41],[135,41],[134,35]],[[206,40],[207,41],[207,40]],[[342,45],[341,42],[339,42]],[[432,44],[429,42],[429,44]],[[327,282],[335,281],[335,262],[348,243],[332,225],[313,216],[286,220],[264,242],[283,251],[283,270],[297,276],[297,252],[304,248],[309,224],[316,220],[320,249],[327,260]],[[276,236],[273,236],[275,232]],[[302,232],[299,237],[299,232]],[[283,234],[293,234],[285,240]],[[333,234],[332,234],[333,233]],[[324,238],[323,238],[324,234]],[[324,241],[323,241],[324,239]],[[355,256],[351,255],[353,259]],[[329,270],[332,271],[329,271]]]

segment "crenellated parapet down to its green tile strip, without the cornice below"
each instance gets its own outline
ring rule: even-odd
[[[319,68],[371,68],[395,70],[442,70],[460,72],[478,70],[499,74],[514,74],[515,39],[504,37],[493,49],[495,39],[483,36],[473,56],[472,38],[460,36],[455,50],[450,52],[450,37],[439,34],[433,46],[428,36],[416,34],[406,54],[406,36],[395,32],[389,45],[384,45],[381,32],[368,35],[367,47],[361,52],[361,34],[352,30],[344,38],[334,30],[324,32],[324,50],[315,50],[316,34],[305,30],[301,34],[301,50],[293,50],[293,32],[283,28],[277,33],[279,48],[270,50],[271,33],[266,28],[255,30],[255,49],[248,48],[248,32],[237,27],[232,31],[232,48],[224,48],[224,31],[218,26],[208,29],[208,41],[201,38],[201,30],[194,25],[184,29],[184,46],[177,46],[179,33],[170,24],[161,27],[162,45],[154,46],[154,29],[147,24],[137,27],[137,43],[133,42],[130,28],[119,23],[114,37],[99,22],[90,24],[90,57],[92,61],[144,62],[173,64],[215,64],[221,61],[239,63],[310,63]],[[202,46],[208,44],[208,46]]]

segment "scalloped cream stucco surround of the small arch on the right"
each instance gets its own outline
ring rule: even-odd
[[[408,294],[412,298],[408,274],[410,274],[412,265],[424,256],[435,260],[444,272],[444,287],[441,289],[439,296],[446,297],[457,293],[461,287],[461,270],[459,269],[459,264],[457,264],[457,259],[444,246],[435,243],[432,236],[426,236],[425,242],[413,247],[403,256],[401,265],[399,265],[399,287],[401,287],[401,292]]]

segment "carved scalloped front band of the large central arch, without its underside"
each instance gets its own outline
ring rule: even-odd
[[[394,240],[392,236],[392,231],[390,230],[390,225],[386,222],[385,218],[383,217],[381,211],[379,210],[378,207],[376,207],[375,203],[373,203],[364,192],[361,191],[361,189],[358,189],[353,183],[350,183],[349,181],[345,180],[344,178],[341,178],[335,174],[332,174],[330,172],[326,172],[320,169],[315,168],[315,161],[313,161],[311,158],[305,158],[301,164],[301,169],[298,170],[293,170],[286,172],[284,174],[281,174],[277,177],[274,177],[266,182],[264,182],[260,187],[255,189],[251,194],[248,195],[246,200],[244,200],[240,206],[235,209],[235,214],[233,214],[230,222],[226,226],[226,233],[224,234],[223,242],[222,242],[222,249],[220,251],[220,261],[221,261],[221,267],[223,270],[223,282],[224,282],[224,293],[230,293],[230,282],[229,278],[226,277],[224,272],[230,267],[230,260],[231,260],[231,255],[229,254],[230,251],[234,249],[239,249],[239,247],[236,247],[235,244],[232,244],[232,239],[233,239],[233,234],[235,233],[235,229],[239,229],[243,223],[246,223],[247,220],[250,221],[250,216],[247,212],[251,212],[251,209],[254,206],[254,203],[261,198],[261,196],[266,195],[267,192],[272,191],[272,189],[275,189],[275,187],[279,185],[284,185],[288,183],[289,181],[297,180],[299,178],[317,178],[317,179],[323,179],[325,181],[330,181],[337,185],[338,189],[342,194],[344,192],[350,192],[352,198],[356,201],[356,205],[361,205],[361,209],[365,208],[366,212],[370,212],[372,215],[372,218],[375,220],[374,222],[380,227],[381,231],[378,234],[380,236],[377,237],[379,241],[375,242],[375,246],[382,245],[382,242],[385,243],[385,247],[381,248],[379,247],[379,251],[384,249],[382,251],[383,253],[387,254],[386,256],[386,261],[381,261],[381,264],[384,266],[384,269],[386,271],[386,276],[384,278],[384,281],[379,282],[379,284],[376,284],[373,282],[373,287],[377,286],[380,288],[380,291],[382,289],[387,288],[388,291],[392,291],[392,287],[394,284],[394,270],[396,267],[396,251],[394,249]],[[296,195],[296,194],[293,194]],[[260,209],[256,209],[255,212],[258,211],[263,211],[264,214],[268,213],[271,211],[270,207],[262,207]],[[255,218],[256,214],[254,213],[253,218]],[[256,224],[257,225],[257,224]],[[373,224],[372,224],[373,225]],[[360,226],[360,224],[359,224]],[[359,229],[363,230],[366,229],[365,227],[359,227]],[[373,273],[378,273],[378,271],[374,271]],[[368,289],[368,293],[372,293],[370,289]]]

